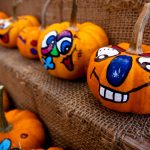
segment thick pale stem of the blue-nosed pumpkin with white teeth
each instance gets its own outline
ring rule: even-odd
[[[143,53],[142,39],[143,39],[144,28],[146,24],[148,23],[149,17],[150,17],[150,3],[146,3],[134,26],[130,46],[127,52],[133,53],[133,54]]]

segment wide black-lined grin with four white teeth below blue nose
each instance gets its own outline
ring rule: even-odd
[[[99,76],[96,74],[95,70],[96,70],[96,68],[93,69],[93,71],[90,75],[90,78],[92,77],[92,75],[94,75],[95,78],[97,79],[97,81],[99,82]],[[148,87],[148,86],[150,86],[150,82],[145,83],[139,87],[136,87],[128,92],[119,92],[119,91],[113,90],[109,87],[106,87],[99,82],[99,95],[107,101],[111,101],[114,103],[126,103],[129,99],[130,93],[136,92],[136,91],[138,91],[144,87]]]

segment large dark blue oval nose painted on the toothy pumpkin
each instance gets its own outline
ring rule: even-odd
[[[107,69],[107,80],[112,86],[120,86],[132,67],[132,57],[120,55],[115,57]]]

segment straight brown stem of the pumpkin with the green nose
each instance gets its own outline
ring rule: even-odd
[[[77,28],[77,10],[78,10],[77,3],[78,3],[77,0],[72,1],[72,12],[71,12],[70,26],[69,26],[69,29],[74,30],[74,31],[78,31],[78,28]]]

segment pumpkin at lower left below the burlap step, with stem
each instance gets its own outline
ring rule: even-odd
[[[9,141],[8,149],[41,147],[45,140],[42,123],[28,110],[15,109],[4,113],[3,88],[0,86],[0,142]]]

